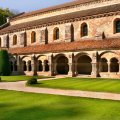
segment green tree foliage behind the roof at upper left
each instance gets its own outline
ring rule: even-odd
[[[6,23],[6,18],[13,16],[14,13],[10,11],[8,8],[2,9],[0,8],[0,25]]]

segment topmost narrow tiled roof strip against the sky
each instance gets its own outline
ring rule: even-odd
[[[68,3],[64,3],[64,4],[61,4],[61,5],[56,5],[56,6],[52,6],[52,7],[32,11],[32,12],[28,12],[28,13],[19,15],[17,17],[14,17],[11,20],[16,20],[16,19],[19,19],[19,18],[24,18],[24,17],[40,14],[40,13],[43,13],[43,12],[53,11],[53,10],[56,10],[56,9],[63,9],[63,8],[66,8],[66,7],[79,5],[79,4],[84,4],[84,3],[93,2],[93,1],[99,1],[99,0],[76,0],[76,1],[68,2]]]

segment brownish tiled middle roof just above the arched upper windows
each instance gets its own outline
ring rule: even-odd
[[[24,28],[31,28],[34,26],[39,26],[39,25],[46,25],[49,23],[55,23],[59,21],[64,21],[64,20],[70,20],[74,18],[83,18],[87,16],[94,16],[94,15],[101,15],[101,14],[107,14],[107,13],[113,13],[113,12],[120,12],[120,4],[115,4],[115,5],[110,5],[110,6],[105,6],[105,7],[99,7],[99,8],[94,8],[90,10],[83,10],[79,12],[74,12],[74,13],[68,13],[64,15],[58,15],[54,17],[49,17],[49,18],[44,18],[40,20],[35,20],[32,22],[26,22],[26,23],[21,23],[17,25],[12,25],[9,27],[6,27],[4,29],[0,30],[0,34],[5,34],[9,32],[14,32],[19,29],[24,29]]]

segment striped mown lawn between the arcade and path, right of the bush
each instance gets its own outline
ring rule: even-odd
[[[40,81],[35,87],[120,93],[120,79],[62,78]]]

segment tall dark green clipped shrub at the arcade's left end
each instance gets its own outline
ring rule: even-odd
[[[0,75],[1,76],[10,75],[9,55],[6,50],[0,51]]]

